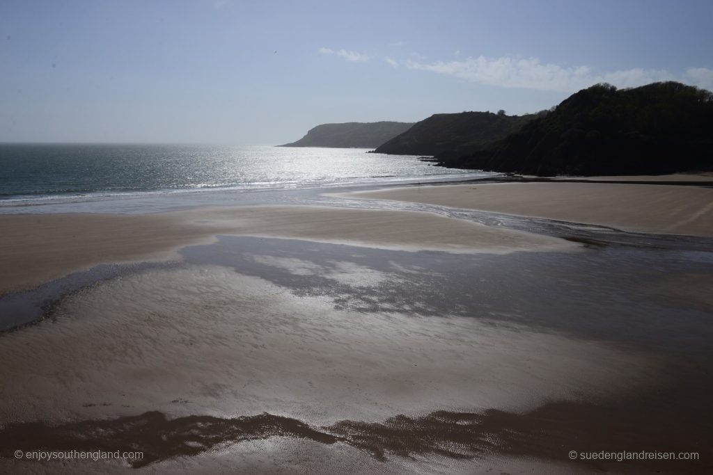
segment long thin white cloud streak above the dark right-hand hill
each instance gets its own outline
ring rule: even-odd
[[[499,85],[506,88],[528,88],[573,92],[595,83],[611,83],[629,88],[661,80],[676,80],[676,75],[666,70],[633,68],[608,73],[596,73],[589,66],[560,66],[541,63],[538,58],[467,58],[456,61],[423,63],[409,60],[409,69],[451,75],[474,83]],[[713,85],[713,71],[707,68],[689,68],[684,78],[687,83],[701,87]]]

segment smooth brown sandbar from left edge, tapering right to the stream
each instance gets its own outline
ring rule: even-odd
[[[574,249],[548,236],[424,212],[228,207],[153,215],[0,216],[0,294],[106,262],[170,259],[215,234],[459,253]]]

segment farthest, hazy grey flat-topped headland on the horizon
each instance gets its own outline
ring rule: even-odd
[[[346,122],[322,124],[312,128],[307,135],[279,147],[336,147],[374,148],[408,130],[409,122]]]

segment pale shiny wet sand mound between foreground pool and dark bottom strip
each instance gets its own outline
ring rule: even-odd
[[[13,403],[0,415],[30,422],[270,412],[331,424],[606,398],[647,387],[660,370],[645,351],[498,323],[487,312],[335,308],[345,291],[335,282],[334,296],[319,288],[310,296],[225,266],[188,264],[98,283],[58,302],[53,320],[3,335],[0,377],[12,384],[0,397]]]

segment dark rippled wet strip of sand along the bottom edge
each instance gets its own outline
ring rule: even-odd
[[[138,468],[178,456],[227,452],[235,444],[275,437],[345,444],[382,463],[423,456],[470,460],[493,455],[562,461],[570,451],[704,453],[704,433],[694,424],[684,426],[689,430],[679,432],[673,440],[665,426],[674,422],[681,427],[680,421],[673,420],[674,414],[660,414],[657,424],[650,426],[637,412],[622,409],[631,407],[560,402],[523,414],[496,409],[481,413],[438,411],[417,417],[399,415],[384,422],[342,420],[322,427],[267,413],[226,419],[200,415],[169,419],[161,412],[145,412],[59,425],[10,424],[0,429],[0,455],[9,458],[16,449],[142,451],[140,458],[125,460]],[[635,460],[622,464],[577,458],[570,463],[589,470],[617,468],[626,472],[663,468],[677,473],[706,473],[713,468],[701,460],[663,464],[660,460]]]

